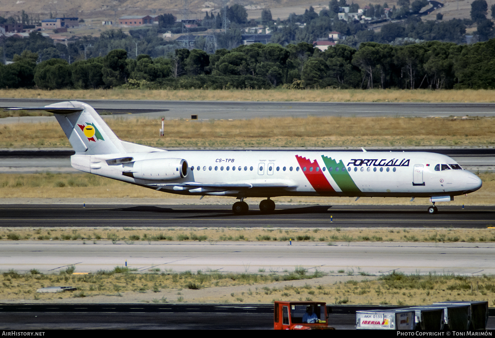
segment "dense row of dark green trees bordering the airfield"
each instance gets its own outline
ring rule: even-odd
[[[172,57],[127,57],[123,49],[68,64],[36,63],[28,50],[0,66],[0,87],[110,88],[495,88],[495,39],[474,45],[424,42],[394,46],[337,44],[321,52],[305,42],[242,45],[207,54],[176,49]]]

